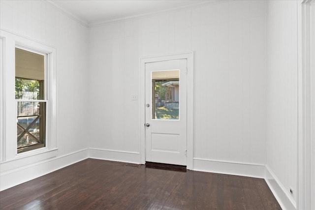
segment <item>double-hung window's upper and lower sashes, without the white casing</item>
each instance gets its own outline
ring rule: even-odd
[[[17,153],[46,146],[47,54],[15,48]]]

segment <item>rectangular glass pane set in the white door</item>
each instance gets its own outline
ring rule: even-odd
[[[179,70],[152,72],[152,119],[179,120]]]

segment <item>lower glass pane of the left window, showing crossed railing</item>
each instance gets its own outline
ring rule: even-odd
[[[17,102],[18,153],[45,147],[45,113],[46,102]]]

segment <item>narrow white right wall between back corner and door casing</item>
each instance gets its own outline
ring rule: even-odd
[[[297,60],[297,2],[267,1],[266,166],[293,204],[297,198]]]

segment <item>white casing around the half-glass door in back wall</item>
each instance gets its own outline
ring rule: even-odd
[[[177,53],[163,56],[150,56],[140,58],[140,163],[145,164],[145,64],[151,62],[160,62],[168,60],[187,60],[187,169],[193,169],[193,70],[194,54],[193,52]]]

